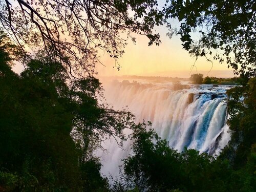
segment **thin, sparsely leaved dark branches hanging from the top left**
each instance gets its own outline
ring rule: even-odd
[[[0,25],[19,45],[44,45],[48,51],[50,46],[70,73],[93,73],[99,61],[97,51],[117,59],[133,33],[146,35],[150,45],[159,45],[159,35],[152,32],[155,24],[161,24],[155,5],[155,0],[6,0],[0,3]],[[134,11],[133,17],[129,9]],[[119,69],[118,62],[116,65]]]

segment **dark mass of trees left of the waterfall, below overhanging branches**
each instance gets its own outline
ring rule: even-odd
[[[98,79],[70,81],[44,51],[20,75],[11,70],[6,47],[0,53],[0,189],[107,189],[92,151],[110,136],[123,139],[133,116],[99,104]]]

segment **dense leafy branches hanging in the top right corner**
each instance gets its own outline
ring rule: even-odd
[[[165,19],[178,18],[180,28],[174,31],[168,23],[169,35],[181,36],[183,48],[196,57],[205,56],[226,61],[236,73],[256,75],[255,28],[256,9],[247,1],[166,1]],[[200,38],[193,38],[198,31]],[[219,50],[214,54],[213,50]]]

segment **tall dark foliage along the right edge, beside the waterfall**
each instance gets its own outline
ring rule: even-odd
[[[228,125],[231,140],[219,156],[219,160],[227,159],[234,173],[231,175],[233,186],[241,191],[253,191],[256,188],[255,178],[255,96],[256,79],[241,77],[241,86],[227,91],[228,94]]]

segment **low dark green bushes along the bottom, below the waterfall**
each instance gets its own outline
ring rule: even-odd
[[[178,153],[145,123],[133,129],[133,154],[123,160],[124,176],[113,191],[254,191],[255,144],[246,166],[236,169],[226,158],[186,148]]]

